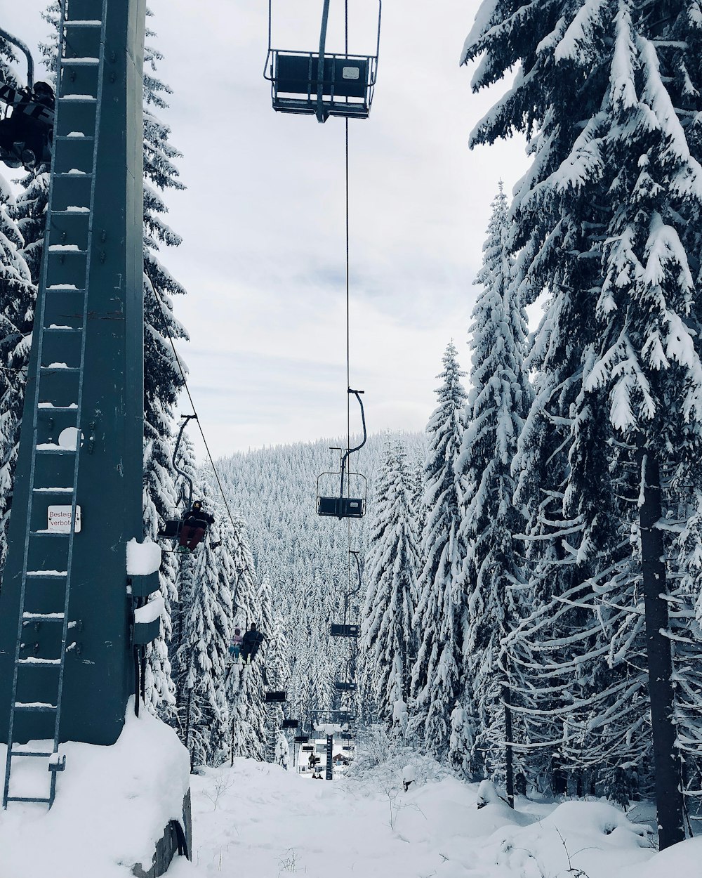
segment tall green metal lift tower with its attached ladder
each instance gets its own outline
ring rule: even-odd
[[[61,742],[113,744],[133,693],[125,549],[142,537],[145,14],[145,0],[61,0],[47,230],[0,594],[4,805],[50,805]],[[136,579],[148,582],[131,592],[158,587]],[[37,739],[54,745],[26,746]],[[46,798],[11,785],[22,759],[47,760]]]

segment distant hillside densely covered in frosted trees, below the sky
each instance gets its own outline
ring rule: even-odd
[[[417,470],[425,437],[405,434],[401,439]],[[389,435],[371,435],[350,458],[352,469],[368,479],[369,498],[369,515],[350,525],[315,512],[318,476],[339,468],[339,452],[330,446],[345,445],[346,439],[253,450],[218,463],[230,504],[247,524],[259,578],[270,582],[273,613],[283,625],[290,661],[290,679],[285,681],[290,683],[290,709],[301,716],[311,708],[333,705],[333,680],[347,651],[329,637],[329,622],[340,621],[343,595],[351,590],[349,618],[358,622],[366,579],[358,592],[353,559],[349,567],[349,538],[351,549],[364,558],[383,449],[394,441]],[[320,481],[320,489],[338,491],[339,477]]]

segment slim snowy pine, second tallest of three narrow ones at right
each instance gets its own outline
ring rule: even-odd
[[[413,627],[419,634],[417,659],[412,668],[411,728],[429,752],[443,759],[449,749],[451,714],[461,694],[464,595],[461,587],[462,522],[461,473],[458,458],[465,429],[465,374],[450,342],[443,356],[439,405],[426,434],[429,447],[423,468],[426,509],[421,536],[419,594]]]

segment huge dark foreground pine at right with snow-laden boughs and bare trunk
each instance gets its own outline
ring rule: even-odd
[[[661,472],[698,459],[700,141],[692,119],[702,103],[694,61],[700,18],[688,4],[628,0],[551,2],[536,10],[515,15],[511,3],[498,2],[478,13],[465,48],[466,58],[483,55],[474,87],[515,65],[519,72],[475,136],[489,142],[512,130],[539,132],[515,211],[523,220],[532,212],[529,225],[519,223],[529,270],[533,279],[542,271],[556,297],[576,303],[568,328],[583,367],[587,346],[577,327],[591,330],[595,359],[581,380],[594,417],[607,414],[620,438],[639,450],[636,527],[652,638],[658,819],[667,846],[682,838],[682,801],[670,642],[659,636],[668,614],[658,596],[667,584],[662,588],[664,540],[656,522]],[[572,463],[588,461],[581,455]]]

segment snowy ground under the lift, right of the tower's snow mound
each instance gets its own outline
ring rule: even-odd
[[[397,780],[397,782],[395,782]],[[693,878],[702,838],[657,854],[647,825],[605,802],[501,802],[454,778],[308,783],[238,759],[192,779],[193,863],[169,878]],[[399,789],[398,789],[399,788]]]

